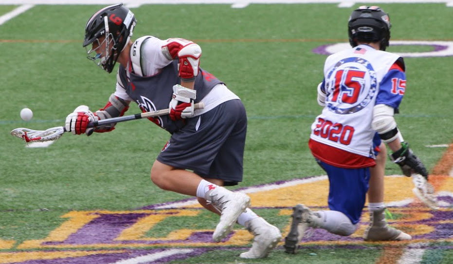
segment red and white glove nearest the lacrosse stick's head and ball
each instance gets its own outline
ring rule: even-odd
[[[94,128],[88,128],[88,124],[97,121],[99,118],[94,115],[88,106],[80,105],[74,109],[73,113],[66,117],[65,129],[74,135],[87,134],[91,135]]]

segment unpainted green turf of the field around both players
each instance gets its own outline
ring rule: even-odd
[[[65,134],[46,149],[24,148],[23,142],[9,135],[17,127],[44,130],[63,125],[76,106],[86,104],[96,110],[107,102],[114,91],[115,74],[92,65],[81,45],[86,20],[101,7],[38,5],[0,26],[0,39],[29,40],[0,42],[4,58],[0,60],[0,239],[45,238],[65,221],[60,216],[70,210],[134,209],[187,198],[158,189],[149,181],[152,162],[169,135],[146,120],[119,124],[114,132],[88,138]],[[392,39],[452,39],[453,9],[445,4],[381,7],[390,13]],[[0,14],[13,8],[0,5]],[[322,80],[326,56],[311,50],[347,41],[345,25],[352,8],[252,4],[243,9],[144,5],[132,10],[139,20],[134,37],[150,34],[197,40],[203,49],[201,67],[242,98],[249,126],[244,181],[238,187],[324,174],[307,141],[310,125],[321,111],[316,86]],[[425,51],[408,49],[396,46],[389,51]],[[407,92],[396,120],[406,141],[432,169],[445,149],[425,145],[452,141],[449,98],[453,75],[449,73],[453,72],[453,57],[406,58],[405,62]],[[20,120],[23,107],[34,111],[32,121]],[[132,105],[127,113],[139,112]],[[388,162],[386,174],[400,174],[400,170]],[[50,211],[36,210],[40,208]],[[288,218],[275,215],[276,209],[257,212],[280,228],[287,224]],[[217,216],[203,212],[196,223],[190,217],[179,221],[184,226],[212,228]],[[182,224],[168,220],[154,231],[165,234]],[[190,263],[242,261],[235,258],[240,252],[216,251]],[[351,254],[357,259],[350,259]],[[379,254],[376,248],[304,249],[296,256],[278,251],[265,263],[372,263]],[[449,258],[452,250],[433,249],[423,261],[448,263]]]

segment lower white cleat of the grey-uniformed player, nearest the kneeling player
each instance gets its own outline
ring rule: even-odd
[[[282,234],[276,226],[272,226],[262,217],[254,218],[245,223],[247,230],[254,235],[254,242],[249,251],[241,253],[244,259],[265,258],[282,239]]]

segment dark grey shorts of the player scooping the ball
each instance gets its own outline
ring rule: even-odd
[[[226,186],[242,181],[247,114],[241,100],[226,101],[186,121],[157,160],[203,178],[224,180]]]

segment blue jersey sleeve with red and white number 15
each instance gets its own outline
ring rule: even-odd
[[[390,70],[381,81],[376,105],[384,104],[398,109],[406,91],[406,74],[397,69]]]

